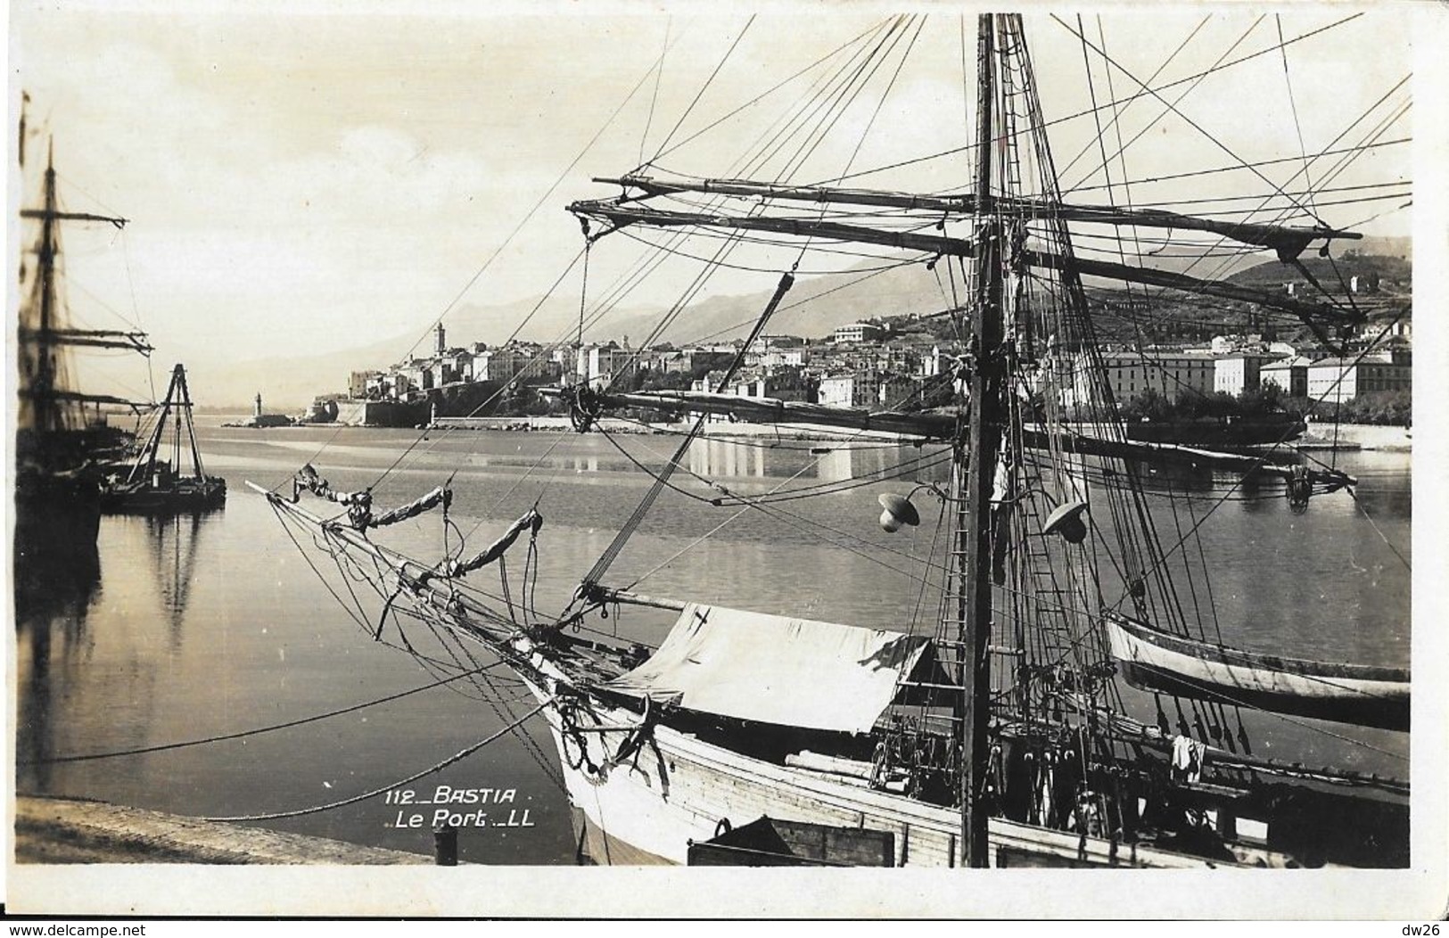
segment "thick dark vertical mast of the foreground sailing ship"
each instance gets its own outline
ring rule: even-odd
[[[965,439],[955,448],[952,478],[959,499],[956,529],[956,619],[965,655],[961,721],[961,851],[962,866],[985,867],[987,812],[981,793],[987,779],[991,681],[987,639],[991,632],[991,481],[1001,442],[1001,232],[991,191],[995,41],[993,16],[977,19],[977,290],[969,322],[971,375]],[[964,445],[962,445],[964,442]]]

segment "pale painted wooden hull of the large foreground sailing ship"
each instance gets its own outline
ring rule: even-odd
[[[542,689],[532,683],[530,687],[540,702],[549,699]],[[639,715],[594,705],[597,726],[619,729],[577,732],[577,726],[565,725],[558,707],[543,710],[559,752],[577,845],[585,863],[685,864],[691,844],[771,818],[888,832],[894,839],[890,866],[958,866],[958,809],[875,790],[864,781],[752,758],[669,726],[652,726],[632,757],[600,770],[627,728],[639,723]],[[991,819],[988,839],[994,867],[1204,868],[1224,864],[1223,858],[1113,844],[1001,818]],[[1243,860],[1290,866],[1287,857],[1266,851]]]

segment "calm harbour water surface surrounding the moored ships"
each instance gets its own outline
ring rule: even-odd
[[[203,428],[207,470],[230,487],[226,509],[196,519],[103,519],[99,576],[17,622],[17,760],[32,763],[19,768],[19,790],[199,816],[277,813],[387,786],[496,732],[530,706],[501,673],[488,684],[459,681],[243,739],[46,761],[277,725],[419,687],[455,673],[456,663],[471,667],[475,649],[440,642],[417,623],[406,626],[406,638],[419,657],[403,647],[396,623],[384,628],[383,641],[372,641],[380,602],[316,551],[298,551],[290,529],[243,480],[281,486],[312,461],[338,489],[375,484],[375,503],[385,507],[456,473],[455,528],[445,534],[436,515],[425,515],[387,532],[388,542],[427,558],[456,551],[459,536],[481,548],[538,502],[546,522],[535,602],[539,615],[549,615],[567,603],[646,491],[649,480],[630,458],[658,465],[675,445],[668,436],[616,441],[627,455],[597,433],[462,432],[417,441],[412,431]],[[932,448],[813,454],[811,445],[824,444],[701,441],[690,470],[746,494],[782,483],[827,486],[872,471],[906,480],[945,476]],[[1211,512],[1203,534],[1214,564],[1219,625],[1226,641],[1255,649],[1407,665],[1410,457],[1362,452],[1339,455],[1337,462],[1362,478],[1356,503],[1342,493],[1319,497],[1307,515],[1294,516],[1281,489],[1261,499],[1243,489],[1243,500]],[[704,496],[720,494],[684,473],[675,480]],[[1198,519],[1213,507],[1214,483],[1223,487],[1211,476],[1172,480],[1201,499]],[[665,493],[609,581],[638,581],[639,592],[659,596],[906,629],[920,590],[916,571],[930,551],[930,519],[894,536],[880,532],[874,519],[877,494],[909,487],[877,483],[743,513]],[[522,542],[509,573],[513,597],[522,602]],[[491,570],[471,578],[484,589],[498,586]],[[354,613],[354,596],[372,602]],[[932,607],[927,600],[927,615]],[[653,642],[668,625],[667,613],[635,610],[588,622]],[[1151,700],[1124,693],[1129,707],[1152,718]],[[1245,722],[1261,755],[1408,776],[1404,734],[1313,721],[1284,725],[1252,715]],[[527,734],[504,736],[409,787],[420,799],[439,784],[513,792],[490,816],[501,821],[511,812],[517,826],[465,829],[467,861],[572,863],[555,758],[546,731],[530,725]],[[430,825],[401,829],[396,818],[397,808],[371,799],[256,823],[419,852],[432,848]]]

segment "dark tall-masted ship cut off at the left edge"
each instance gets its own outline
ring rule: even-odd
[[[25,119],[20,123],[20,165],[25,165]],[[67,317],[59,287],[61,222],[100,222],[117,229],[126,219],[68,212],[59,204],[54,142],[46,152],[41,204],[20,217],[38,222],[32,246],[20,261],[19,410],[16,415],[16,570],[64,568],[77,551],[94,558],[100,525],[100,483],[116,461],[129,454],[133,433],[112,426],[103,406],[138,407],[112,394],[74,387],[71,349],[126,349],[146,355],[143,332],[78,329]],[[33,254],[30,264],[28,255]],[[88,547],[83,547],[88,545]],[[26,567],[26,565],[30,567]]]

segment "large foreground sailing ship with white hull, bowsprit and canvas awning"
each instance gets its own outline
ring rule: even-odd
[[[626,229],[726,244],[769,236],[800,245],[801,257],[823,245],[874,245],[949,268],[965,296],[945,313],[964,349],[943,375],[951,407],[907,413],[587,383],[562,389],[580,431],[620,407],[685,415],[693,426],[662,467],[645,467],[653,483],[638,510],[556,616],[530,615],[507,590],[496,596],[468,581],[483,568],[501,570],[519,544],[536,548],[539,509],[483,551],[427,561],[387,545],[383,529],[429,510],[442,510],[446,529],[448,486],[385,512],[374,509],[371,489],[341,490],[313,464],[277,489],[252,487],[284,522],[309,528],[349,577],[377,577],[375,636],[406,610],[481,644],[522,678],[558,752],[580,854],[596,863],[680,864],[710,844],[745,863],[791,861],[740,847],[733,835],[778,823],[777,839],[785,828],[813,829],[823,844],[846,844],[851,831],[871,835],[869,848],[848,852],[885,866],[1407,864],[1407,783],[1253,755],[1242,722],[1243,710],[1268,709],[1403,729],[1407,673],[1269,658],[1214,641],[1214,621],[1195,615],[1174,584],[1188,552],[1164,542],[1146,507],[1143,467],[1252,476],[1281,484],[1295,512],[1356,480],[1288,454],[1129,439],[1113,419],[1082,283],[1252,303],[1330,345],[1359,315],[1327,299],[1084,257],[1072,226],[1203,232],[1271,249],[1290,265],[1310,245],[1358,235],[1069,202],[1019,16],[978,19],[977,62],[969,193],[640,168],[601,180],[619,196],[569,204],[588,248]],[[872,223],[887,213],[891,223]],[[791,267],[745,348],[793,286]],[[920,625],[903,609],[898,628],[878,629],[611,586],[611,564],[661,491],[677,487],[671,478],[711,415],[948,447],[946,486],[880,499],[887,531],[922,523],[911,500],[919,493],[942,506],[935,621]],[[336,507],[314,512],[304,494]],[[761,503],[726,489],[711,496],[740,510]],[[658,647],[572,628],[622,606],[667,610],[674,625]],[[1123,678],[1165,687],[1155,722],[1127,713]],[[1329,686],[1333,706],[1313,709]]]

